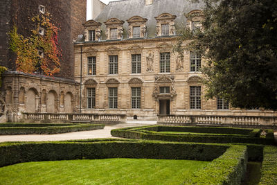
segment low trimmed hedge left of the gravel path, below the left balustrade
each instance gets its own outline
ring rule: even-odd
[[[81,124],[81,123],[3,123],[0,124],[0,135],[15,134],[58,134],[66,132],[77,132],[84,130],[103,129],[103,124]]]

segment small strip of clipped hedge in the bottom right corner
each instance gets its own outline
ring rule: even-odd
[[[264,159],[262,161],[262,177],[260,184],[277,184],[277,147],[266,146],[264,149]]]

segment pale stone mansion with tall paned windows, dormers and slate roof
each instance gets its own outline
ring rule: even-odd
[[[86,21],[84,37],[74,44],[82,112],[153,120],[172,114],[276,116],[234,109],[220,98],[206,100],[201,56],[184,51],[183,58],[172,51],[178,29],[201,27],[203,6],[184,0],[114,1]]]

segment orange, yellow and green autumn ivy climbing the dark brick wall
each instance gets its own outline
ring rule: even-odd
[[[30,37],[17,33],[17,26],[8,33],[10,49],[17,54],[17,71],[53,76],[60,72],[62,50],[57,42],[60,29],[51,23],[51,15],[48,12],[37,15],[30,21],[35,24],[35,30],[30,30]]]

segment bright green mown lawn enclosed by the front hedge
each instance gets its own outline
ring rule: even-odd
[[[207,161],[93,159],[0,168],[0,184],[181,184]]]

